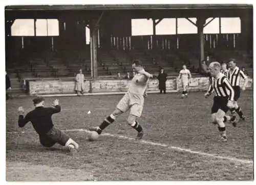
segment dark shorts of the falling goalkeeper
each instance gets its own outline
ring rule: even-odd
[[[70,137],[67,134],[56,127],[53,127],[46,134],[39,135],[40,143],[45,147],[52,147],[55,145],[55,143],[65,146],[69,138]]]

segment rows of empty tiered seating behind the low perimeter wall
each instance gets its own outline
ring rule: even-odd
[[[229,57],[236,58],[237,64],[247,71],[252,71],[252,54],[246,51],[211,51],[206,52],[211,60],[226,62]],[[170,52],[169,50],[98,50],[98,75],[116,76],[131,72],[132,60],[142,60],[146,70],[158,73],[164,68],[169,75],[177,75],[182,65],[187,65],[192,73],[198,73],[197,55],[191,52]],[[26,59],[24,59],[26,60]],[[89,52],[81,50],[61,50],[55,52],[32,53],[29,60],[7,67],[8,73],[19,80],[25,78],[74,77],[79,69],[86,76],[91,74]]]

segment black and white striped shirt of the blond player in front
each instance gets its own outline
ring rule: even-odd
[[[234,100],[234,90],[227,77],[222,73],[220,73],[220,76],[217,79],[210,77],[210,87],[208,93],[211,94],[214,91],[215,96],[228,97],[229,100]]]

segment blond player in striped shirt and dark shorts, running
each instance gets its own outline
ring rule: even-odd
[[[215,91],[214,105],[211,108],[211,119],[214,124],[218,125],[218,130],[222,141],[227,141],[226,127],[224,122],[234,121],[236,116],[226,116],[229,107],[233,106],[234,90],[230,85],[227,77],[220,72],[221,65],[217,61],[210,63],[210,87],[205,97],[210,96]]]

